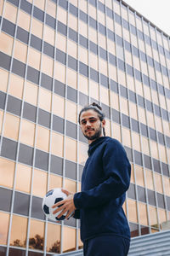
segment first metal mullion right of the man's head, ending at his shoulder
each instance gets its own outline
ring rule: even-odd
[[[111,75],[110,75],[110,63],[109,63],[109,52],[108,52],[108,32],[107,32],[106,6],[105,6],[105,37],[106,37],[107,73],[108,73],[108,79],[109,79],[109,88],[108,88],[109,110],[110,110],[110,122],[112,124],[113,119],[112,119],[112,113],[111,113]],[[111,124],[110,124],[111,137],[113,137],[113,127],[112,127]]]

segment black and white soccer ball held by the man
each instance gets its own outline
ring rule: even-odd
[[[48,193],[43,197],[43,200],[42,200],[43,213],[49,219],[54,220],[54,221],[65,219],[67,212],[65,212],[65,214],[63,216],[58,218],[57,216],[59,216],[59,213],[61,211],[53,214],[53,212],[56,208],[52,208],[52,207],[54,206],[54,204],[56,204],[59,201],[64,200],[66,197],[67,197],[67,195],[65,195],[65,193],[63,193],[60,188],[49,190]]]

